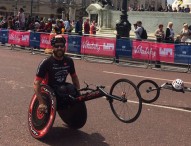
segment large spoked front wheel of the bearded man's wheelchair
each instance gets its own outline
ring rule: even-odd
[[[132,123],[139,117],[142,100],[137,86],[128,79],[115,81],[110,89],[109,103],[114,115],[124,123]]]

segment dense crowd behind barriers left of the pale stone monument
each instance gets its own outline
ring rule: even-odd
[[[96,22],[90,22],[87,19],[84,24],[82,18],[77,21],[70,21],[69,19],[56,19],[39,17],[39,16],[25,16],[23,8],[19,9],[16,16],[0,16],[0,28],[20,30],[20,31],[35,31],[35,32],[46,32],[46,33],[70,33],[75,30],[76,33],[84,34],[96,34],[97,26]]]

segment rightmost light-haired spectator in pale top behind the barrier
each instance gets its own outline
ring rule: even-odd
[[[185,23],[183,29],[180,32],[181,42],[190,40],[191,31],[188,29],[188,24]]]

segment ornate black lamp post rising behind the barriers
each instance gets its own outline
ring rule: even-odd
[[[122,15],[120,17],[120,21],[116,24],[116,30],[117,30],[117,38],[121,37],[129,37],[129,32],[131,30],[131,23],[127,20],[127,0],[123,0],[122,3]]]

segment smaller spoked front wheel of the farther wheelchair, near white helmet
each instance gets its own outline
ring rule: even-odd
[[[142,80],[138,85],[137,88],[141,93],[141,98],[145,103],[152,103],[159,98],[160,95],[160,88],[152,80]]]

